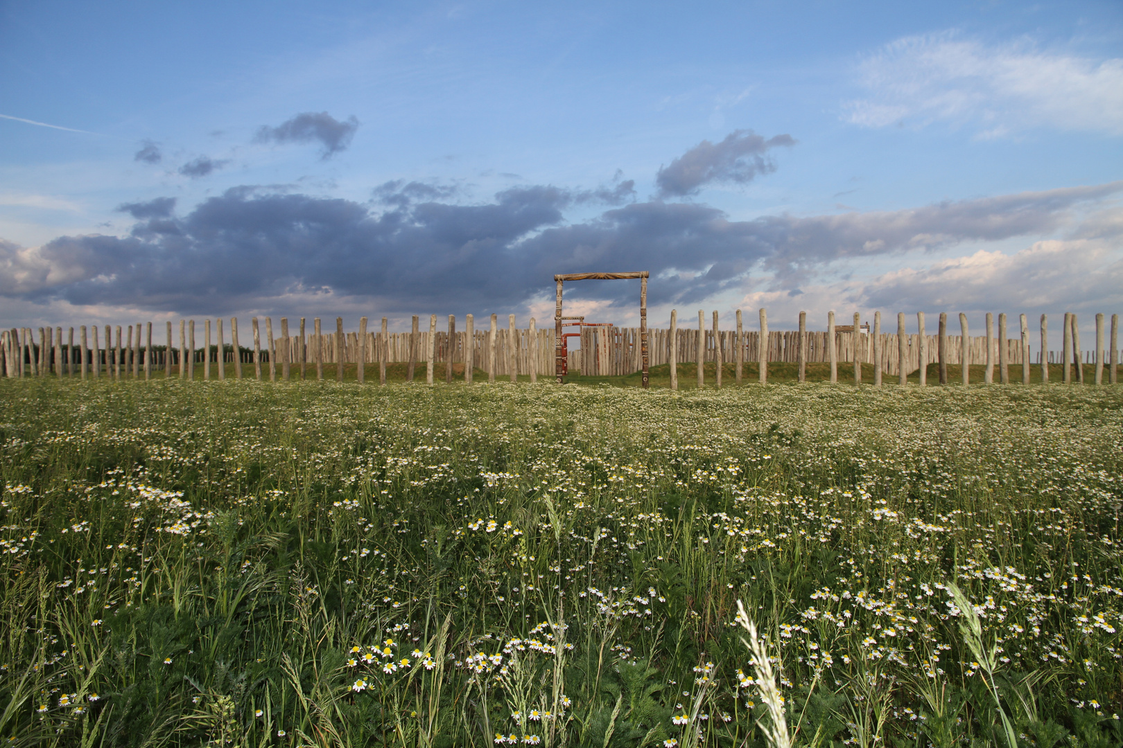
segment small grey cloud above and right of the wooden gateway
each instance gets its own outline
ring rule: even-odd
[[[703,140],[660,168],[655,181],[660,197],[681,197],[696,193],[711,182],[746,184],[758,174],[776,170],[767,153],[777,146],[794,146],[788,135],[765,140],[751,130],[734,130],[714,145]]]

